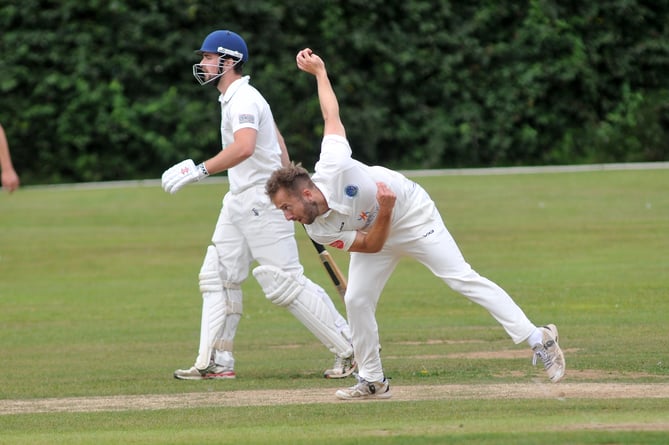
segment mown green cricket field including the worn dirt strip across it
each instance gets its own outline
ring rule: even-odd
[[[668,443],[669,171],[415,179],[473,267],[558,325],[563,383],[413,261],[377,311],[393,399],[334,400],[354,380],[323,379],[331,354],[252,279],[238,378],[177,381],[227,186],[23,188],[0,195],[0,443]]]

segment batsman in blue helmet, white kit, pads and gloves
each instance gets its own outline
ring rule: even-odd
[[[236,33],[209,34],[199,50],[193,75],[220,95],[222,150],[196,165],[184,160],[162,176],[166,192],[176,193],[210,174],[228,172],[230,188],[199,274],[202,293],[200,346],[195,364],[174,371],[181,380],[236,377],[233,343],[242,315],[242,283],[251,264],[267,298],[288,309],[335,355],[324,372],[342,378],[355,369],[348,324],[327,293],[304,276],[295,228],[264,191],[271,173],[288,165],[288,153],[269,104],[249,84],[242,68],[249,59],[246,42]]]

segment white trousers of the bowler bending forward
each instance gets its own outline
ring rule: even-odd
[[[427,214],[424,222],[404,224],[400,218],[393,225],[390,237],[380,252],[351,253],[346,314],[359,375],[369,382],[384,378],[376,305],[402,257],[415,258],[451,289],[487,309],[516,344],[526,340],[536,328],[501,287],[479,275],[465,261],[427,193],[417,187],[414,195],[415,205]],[[402,228],[404,225],[406,229]],[[396,229],[396,226],[399,228]]]

